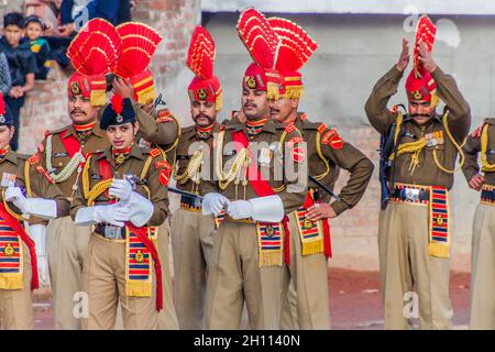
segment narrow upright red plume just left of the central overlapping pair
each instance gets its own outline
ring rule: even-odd
[[[187,54],[187,67],[202,80],[213,77],[215,42],[200,25],[195,28]]]

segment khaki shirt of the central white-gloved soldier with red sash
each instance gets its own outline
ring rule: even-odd
[[[245,123],[239,122],[239,120],[224,122],[223,147],[221,151],[218,150],[218,153],[222,153],[222,165],[224,172],[228,172],[231,168],[231,163],[237,155],[235,145],[234,143],[232,143],[232,132],[244,131],[245,133]],[[258,144],[261,147],[257,148],[257,153],[253,156],[256,157],[257,168],[261,170],[264,179],[267,180],[272,189],[279,190],[284,185],[287,186],[285,187],[285,189],[276,191],[276,194],[282,198],[285,211],[288,213],[301,207],[305,202],[307,194],[307,169],[302,170],[302,173],[299,174],[302,175],[304,179],[300,179],[300,177],[295,177],[297,175],[292,175],[289,176],[290,178],[288,178],[286,165],[292,164],[292,166],[294,167],[294,172],[298,174],[299,167],[307,167],[307,163],[300,163],[299,166],[298,163],[295,163],[292,160],[290,155],[287,155],[287,150],[284,147],[282,148],[282,153],[273,151],[270,152],[270,145],[272,145],[272,143],[274,143],[273,145],[278,146],[278,142],[280,141],[284,131],[285,128],[283,124],[273,120],[268,120],[264,124],[263,130],[249,142],[263,143],[263,145]],[[287,133],[287,136],[283,141],[284,145],[293,139],[302,139],[297,129]],[[216,148],[217,147],[218,144],[216,144]],[[290,152],[288,154],[290,154]],[[285,158],[290,158],[288,164],[284,164]],[[218,165],[213,165],[213,167],[216,167],[215,170],[217,170]],[[219,179],[218,176],[217,179]],[[205,183],[204,193],[207,194],[209,191],[220,191],[230,200],[249,200],[252,198],[261,197],[254,191],[251,183],[248,183],[245,187],[245,197],[244,187],[242,185],[238,185],[238,187],[235,187],[234,182],[232,182],[224,190],[221,190],[219,188],[217,182]]]

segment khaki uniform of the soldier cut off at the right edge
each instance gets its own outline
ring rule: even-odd
[[[495,119],[486,119],[483,138],[468,138],[463,147],[465,163],[462,168],[468,182],[484,173],[484,185],[481,201],[476,207],[473,221],[473,239],[471,255],[471,329],[495,329]],[[486,140],[485,140],[486,139]],[[486,150],[482,148],[482,141],[486,141]],[[479,154],[484,153],[480,170]]]

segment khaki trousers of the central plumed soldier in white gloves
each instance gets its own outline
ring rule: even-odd
[[[224,220],[215,238],[205,328],[239,329],[245,302],[251,329],[279,329],[287,268],[258,266],[256,226]]]

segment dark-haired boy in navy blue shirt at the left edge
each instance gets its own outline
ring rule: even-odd
[[[0,38],[0,52],[6,54],[9,63],[12,88],[6,96],[15,127],[15,133],[11,141],[13,151],[18,150],[19,116],[25,100],[25,92],[34,87],[36,73],[36,59],[31,53],[30,42],[23,37],[24,18],[19,12],[11,12],[3,16],[4,36]]]

